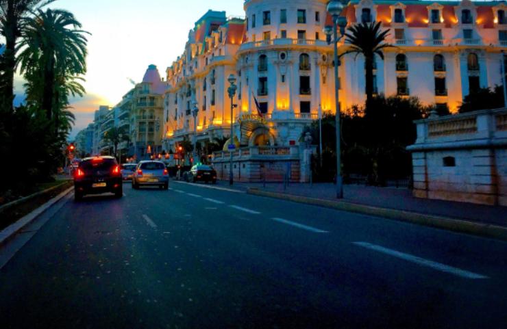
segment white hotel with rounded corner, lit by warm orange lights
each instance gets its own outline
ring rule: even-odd
[[[183,55],[166,71],[164,148],[175,150],[185,136],[193,140],[194,102],[199,141],[229,135],[231,74],[237,77],[233,116],[240,145],[300,144],[320,109],[336,111],[333,49],[323,34],[331,24],[326,6],[326,0],[247,0],[245,19],[212,11],[200,18]],[[353,0],[343,15],[349,25],[380,21],[391,29],[387,42],[396,47],[376,59],[376,92],[417,96],[454,112],[470,90],[502,84],[506,12],[503,1]],[[341,108],[364,104],[364,58],[345,55],[339,72]],[[244,117],[257,114],[254,97],[266,120]]]

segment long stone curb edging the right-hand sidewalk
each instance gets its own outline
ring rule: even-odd
[[[340,202],[334,200],[308,198],[306,196],[295,196],[293,194],[267,192],[255,188],[247,189],[247,194],[267,196],[269,198],[305,203],[307,205],[321,206],[342,211],[349,211],[352,213],[362,213],[365,215],[388,218],[390,220],[399,220],[401,222],[409,222],[412,224],[442,228],[444,230],[458,233],[467,233],[471,235],[478,235],[480,237],[491,237],[493,239],[507,241],[507,228],[491,224],[470,222],[468,220],[460,220],[439,215],[415,213],[412,211],[372,207],[352,202]]]

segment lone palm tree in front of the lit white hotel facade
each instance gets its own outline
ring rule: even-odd
[[[356,53],[356,55],[362,54],[364,56],[367,106],[371,98],[373,98],[373,63],[375,62],[375,55],[378,55],[384,60],[382,49],[393,47],[391,44],[385,42],[388,34],[389,29],[380,31],[380,22],[352,25],[348,28],[347,33],[345,33],[347,37],[345,43],[350,44],[351,49],[345,51],[343,55],[347,53]]]

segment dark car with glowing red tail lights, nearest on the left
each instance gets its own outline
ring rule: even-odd
[[[120,166],[114,157],[88,157],[74,172],[74,199],[86,194],[111,192],[116,198],[123,196]]]

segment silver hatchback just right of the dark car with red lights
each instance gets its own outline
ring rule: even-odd
[[[132,176],[132,188],[158,185],[161,189],[169,189],[169,172],[163,162],[140,161]]]

